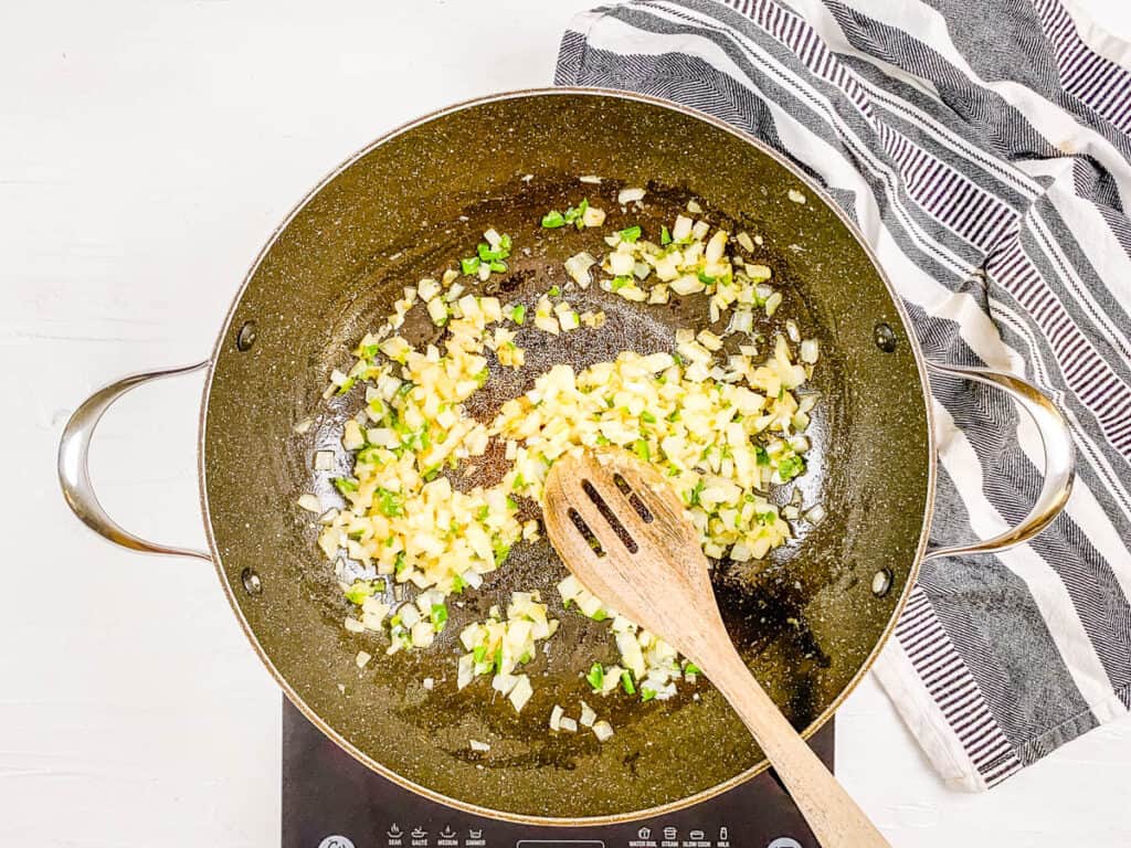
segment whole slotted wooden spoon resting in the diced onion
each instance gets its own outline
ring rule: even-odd
[[[888,841],[746,668],[707,557],[671,486],[627,451],[564,456],[545,488],[550,540],[589,591],[699,666],[753,734],[824,848]]]

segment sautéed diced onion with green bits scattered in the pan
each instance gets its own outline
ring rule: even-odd
[[[624,206],[644,197],[644,189],[625,189],[618,200]],[[702,293],[711,327],[731,313],[726,332],[680,329],[674,353],[624,352],[578,372],[555,365],[493,418],[476,421],[465,401],[500,369],[523,365],[516,340],[527,330],[515,319],[516,304],[503,309],[480,286],[468,282],[465,288],[460,271],[449,268],[442,282],[423,278],[405,287],[381,328],[361,340],[348,371],[335,370],[330,395],[356,383],[365,401],[343,426],[343,447],[357,451],[351,474],[334,481],[345,504],[322,512],[314,495],[303,495],[300,505],[320,516],[318,545],[335,562],[343,590],[354,588],[349,599],[355,606],[359,580],[380,577],[392,587],[391,598],[364,597],[360,613],[345,620],[348,632],[387,634],[388,654],[432,646],[444,630],[449,605],[464,606],[456,592],[481,588],[484,574],[503,564],[512,545],[541,537],[538,521],[525,514],[521,499],[541,500],[556,458],[601,444],[634,451],[659,467],[666,483],[657,485],[670,485],[681,499],[708,556],[761,560],[792,538],[795,530],[783,519],[796,518],[802,504],[798,500],[779,509],[767,499],[767,488],[792,482],[805,469],[802,455],[810,442],[803,431],[815,396],[797,390],[812,378],[815,340],[802,341],[796,323],[787,321],[767,353],[766,339],[753,335],[753,310],[765,308],[772,315],[783,302],[783,294],[767,284],[770,268],[733,256],[737,250],[727,250],[726,231],[713,233],[707,220],[691,217],[702,214],[698,202],[691,201],[688,211],[676,217],[671,232],[645,234],[628,226],[608,233],[603,262],[587,251],[577,253],[566,261],[568,279],[586,287],[599,274],[602,289],[633,302],[665,303],[671,293]],[[601,226],[605,214],[582,202],[571,207],[569,222]],[[734,239],[748,254],[760,243],[748,233]],[[512,246],[495,230],[486,231],[484,240],[481,257],[490,249],[506,258]],[[491,265],[499,267],[473,253],[460,270],[470,270],[474,262],[484,280]],[[562,300],[561,287],[551,292],[552,298],[550,292],[539,296],[533,310],[535,328],[559,335],[582,323],[605,323],[604,312],[578,314]],[[412,326],[406,317],[417,303],[418,311],[443,327],[441,339],[414,346],[397,335],[398,328]],[[503,323],[504,314],[510,323]],[[732,332],[742,334],[739,353],[724,346],[723,336]],[[487,455],[492,445],[507,465],[498,482],[477,484],[472,474],[476,464],[465,460]],[[314,452],[318,470],[333,471],[337,464],[335,451]],[[800,487],[794,490],[800,495]],[[805,512],[806,520],[814,517],[819,520],[823,512]],[[696,681],[694,669],[674,648],[606,608],[572,577],[559,583],[559,592],[571,609],[610,622],[619,659],[595,664],[587,675],[595,694],[623,696],[623,690],[644,701],[662,701],[676,694],[676,684]],[[546,650],[558,628],[537,592],[511,592],[504,609],[491,607],[483,621],[459,631],[457,689],[477,684],[521,711],[534,692],[524,667]],[[355,659],[363,667],[371,657],[363,651]],[[425,690],[431,686],[434,681],[425,678]],[[592,727],[602,742],[613,734],[610,722],[598,720],[585,702],[579,719],[559,706],[550,713],[552,730],[577,732],[579,724]]]

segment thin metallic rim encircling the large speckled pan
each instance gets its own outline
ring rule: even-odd
[[[259,660],[267,668],[268,673],[274,678],[275,683],[283,691],[283,694],[293,703],[309,720],[313,724],[322,734],[330,738],[339,749],[345,751],[357,762],[365,765],[368,769],[377,772],[381,777],[391,780],[397,786],[408,789],[409,791],[416,793],[430,801],[434,801],[439,804],[443,804],[448,807],[454,807],[456,810],[470,813],[473,815],[478,815],[487,819],[495,819],[501,821],[515,822],[520,824],[533,824],[538,827],[599,827],[607,824],[627,824],[630,822],[640,821],[641,819],[649,819],[659,815],[665,815],[680,810],[685,810],[688,807],[694,806],[696,804],[702,803],[710,798],[714,798],[723,793],[729,791],[742,784],[751,780],[761,772],[766,771],[770,763],[767,759],[762,759],[760,762],[750,767],[749,769],[724,780],[715,786],[707,789],[702,789],[693,795],[689,795],[683,798],[677,798],[665,804],[661,804],[653,807],[647,807],[645,810],[636,810],[627,813],[612,813],[605,815],[592,815],[592,816],[545,816],[545,815],[534,815],[528,813],[516,813],[511,811],[493,810],[490,807],[484,807],[477,804],[473,804],[466,801],[460,801],[458,798],[451,798],[441,793],[434,791],[433,789],[422,786],[413,780],[405,778],[404,776],[397,773],[396,771],[389,769],[385,764],[378,762],[372,756],[366,754],[356,747],[353,743],[346,739],[342,734],[339,734],[335,728],[330,727],[322,718],[302,699],[302,696],[291,686],[286,677],[276,668],[275,664],[265,652],[262,646],[259,642],[253,629],[248,623],[243,615],[242,609],[235,597],[235,588],[232,582],[227,579],[224,572],[223,561],[219,553],[218,545],[216,543],[215,535],[213,533],[211,512],[208,503],[208,476],[207,467],[205,462],[205,440],[207,433],[208,424],[208,406],[209,399],[211,397],[213,379],[215,377],[216,363],[219,358],[221,352],[224,348],[225,340],[228,338],[228,334],[232,330],[235,313],[243,301],[243,295],[254,278],[262,265],[267,254],[270,252],[271,248],[275,245],[276,241],[282,236],[282,234],[287,230],[294,218],[307,207],[307,205],[317,197],[323,188],[326,188],[333,180],[338,175],[349,168],[355,162],[366,156],[372,150],[378,147],[391,141],[392,139],[409,132],[411,130],[422,127],[440,118],[444,118],[449,114],[454,114],[467,109],[485,105],[489,103],[498,103],[508,99],[520,99],[525,97],[543,97],[543,96],[558,96],[558,95],[582,95],[582,96],[597,96],[597,97],[610,97],[616,99],[632,101],[638,103],[645,103],[648,105],[657,106],[661,109],[671,110],[674,112],[680,112],[690,118],[705,121],[706,123],[724,130],[732,136],[745,141],[746,144],[754,147],[757,150],[763,155],[772,158],[776,163],[786,168],[796,180],[801,181],[805,188],[811,191],[817,198],[821,200],[829,209],[836,215],[838,220],[843,226],[845,226],[849,234],[853,236],[854,241],[864,251],[872,267],[875,268],[883,282],[884,287],[888,291],[888,295],[895,305],[896,314],[899,317],[900,323],[903,326],[903,336],[906,343],[910,346],[912,354],[915,358],[915,367],[920,378],[920,393],[923,400],[925,421],[927,427],[927,479],[926,479],[926,502],[924,504],[923,522],[920,533],[918,543],[915,548],[915,557],[912,562],[910,570],[907,576],[907,581],[904,585],[903,591],[896,603],[896,607],[892,611],[891,617],[889,618],[887,625],[873,646],[871,652],[867,655],[865,660],[861,664],[860,668],[848,681],[840,693],[829,703],[829,706],[814,718],[809,726],[806,726],[802,732],[801,736],[803,738],[809,738],[819,729],[821,729],[829,719],[836,713],[844,701],[852,694],[856,687],[863,681],[864,676],[872,669],[879,658],[880,652],[887,646],[888,640],[895,632],[896,625],[907,605],[910,597],[912,589],[918,578],[920,566],[923,561],[923,555],[926,552],[927,542],[931,535],[931,525],[934,518],[935,509],[935,484],[938,474],[938,444],[935,436],[935,419],[932,405],[930,403],[930,381],[927,379],[926,372],[926,360],[923,355],[923,351],[920,347],[918,339],[916,338],[914,330],[912,329],[912,323],[907,310],[904,305],[903,298],[898,295],[895,287],[888,277],[887,271],[880,263],[875,251],[867,243],[864,234],[861,232],[860,227],[847,216],[847,214],[840,209],[835,202],[832,197],[813,179],[805,174],[801,168],[789,162],[784,155],[772,149],[766,145],[760,139],[754,136],[733,127],[725,121],[715,118],[714,115],[701,112],[691,106],[683,105],[681,103],[675,103],[672,101],[666,101],[661,97],[653,97],[650,95],[642,95],[632,92],[622,92],[613,88],[601,88],[601,87],[582,87],[582,86],[554,86],[554,87],[535,87],[535,88],[520,88],[508,92],[500,92],[497,94],[483,95],[480,97],[473,97],[469,99],[464,99],[454,103],[448,106],[437,109],[429,112],[420,118],[412,121],[402,123],[400,126],[389,130],[388,132],[379,136],[374,140],[370,141],[365,146],[359,148],[346,159],[340,162],[331,171],[329,171],[317,184],[314,184],[295,206],[287,213],[287,215],[279,222],[279,224],[271,232],[264,246],[260,249],[259,253],[256,256],[254,260],[251,262],[248,271],[245,272],[240,287],[236,289],[232,302],[228,306],[227,313],[224,317],[223,323],[221,326],[219,332],[216,336],[216,341],[213,346],[211,355],[208,362],[207,373],[205,375],[204,390],[201,392],[200,399],[200,414],[198,424],[198,438],[197,438],[197,477],[199,483],[199,497],[200,497],[200,510],[201,517],[204,518],[205,535],[208,539],[208,550],[211,554],[213,566],[216,570],[216,576],[219,579],[219,583],[224,589],[224,596],[226,597],[228,605],[232,608],[236,621],[240,623],[240,628],[243,630],[244,635],[251,643],[252,650],[259,657]]]

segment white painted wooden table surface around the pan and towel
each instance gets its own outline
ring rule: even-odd
[[[330,166],[437,106],[546,84],[592,3],[0,8],[0,845],[277,843],[278,691],[209,566],[71,518],[60,427],[112,378],[202,358]],[[1131,35],[1125,0],[1083,5]],[[201,544],[199,389],[127,397],[93,451],[105,505],[158,540]],[[941,786],[872,680],[837,734],[841,778],[897,846],[1131,845],[1131,722],[981,796]]]

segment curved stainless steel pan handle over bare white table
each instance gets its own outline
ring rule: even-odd
[[[94,438],[94,430],[98,426],[102,414],[110,408],[118,398],[130,389],[159,380],[164,377],[180,377],[199,371],[208,364],[208,361],[198,362],[195,365],[185,365],[179,369],[167,369],[165,371],[149,371],[144,374],[131,374],[121,380],[98,389],[94,395],[83,401],[81,406],[75,410],[67,426],[63,427],[63,435],[59,440],[59,485],[62,486],[63,497],[67,505],[71,508],[83,522],[100,536],[110,539],[115,545],[128,547],[131,551],[144,551],[150,554],[173,554],[175,556],[197,556],[208,560],[209,556],[204,551],[196,551],[190,547],[171,547],[170,545],[158,545],[155,542],[135,536],[123,529],[114,519],[106,514],[106,511],[98,503],[98,496],[94,493],[88,469],[90,440]]]

